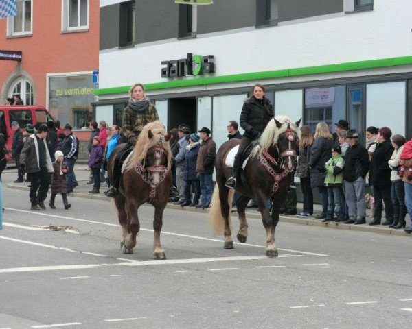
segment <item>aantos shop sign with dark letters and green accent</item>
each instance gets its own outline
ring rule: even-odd
[[[161,77],[185,77],[214,73],[214,56],[193,55],[187,53],[181,60],[165,60],[161,62]]]

